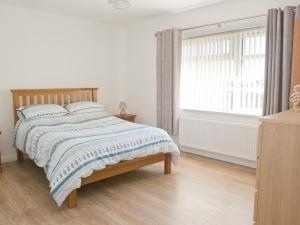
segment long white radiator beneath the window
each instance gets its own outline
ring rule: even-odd
[[[196,154],[255,165],[259,122],[258,118],[243,117],[216,113],[183,115],[179,121],[179,143],[183,150],[189,147]]]

